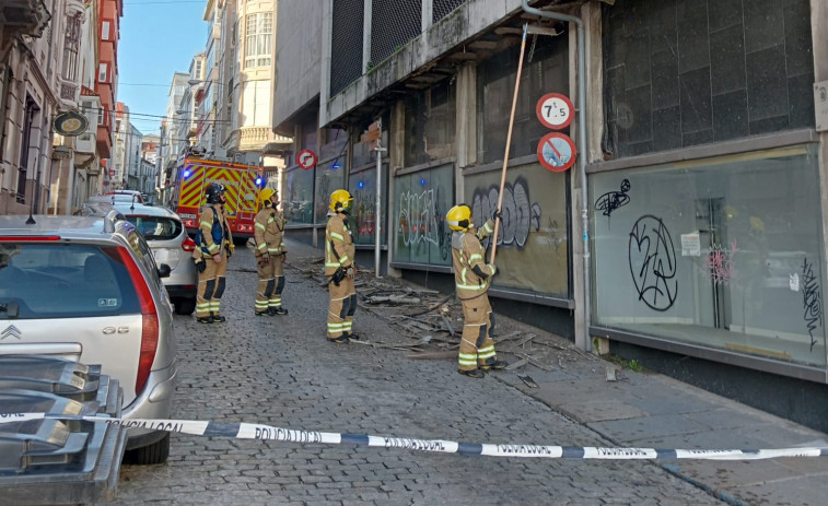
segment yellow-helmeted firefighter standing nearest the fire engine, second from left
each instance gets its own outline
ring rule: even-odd
[[[256,289],[256,316],[287,315],[282,308],[282,290],[284,290],[284,271],[282,262],[288,251],[282,245],[282,233],[287,220],[276,209],[279,193],[272,188],[259,192],[261,210],[256,214],[256,264],[259,283]]]

